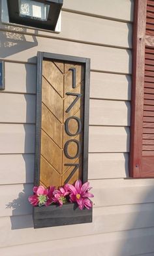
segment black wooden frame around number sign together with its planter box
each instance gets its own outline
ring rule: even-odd
[[[40,145],[41,145],[41,103],[42,103],[42,61],[62,60],[65,62],[77,62],[85,66],[84,83],[84,139],[83,139],[83,175],[82,182],[87,182],[88,173],[88,140],[89,140],[89,81],[90,81],[90,59],[63,54],[42,53],[37,54],[37,110],[36,110],[36,135],[35,135],[35,173],[34,184],[40,181]],[[51,184],[54,185],[54,184]],[[48,209],[47,209],[48,208]],[[64,209],[64,211],[63,211]],[[53,215],[54,214],[54,215]],[[42,216],[42,217],[41,217]],[[56,216],[56,217],[55,217]],[[78,209],[76,203],[67,203],[63,207],[50,205],[48,207],[33,207],[33,221],[35,228],[45,226],[59,226],[66,224],[91,223],[92,208]]]

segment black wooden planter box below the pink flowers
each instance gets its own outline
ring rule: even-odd
[[[92,207],[89,210],[85,207],[80,210],[76,203],[66,203],[62,207],[59,205],[33,207],[34,228],[91,223],[92,212]]]

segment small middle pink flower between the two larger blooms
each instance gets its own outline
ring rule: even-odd
[[[66,196],[69,194],[67,184],[62,188],[59,188],[59,190],[54,191],[54,202],[59,203],[60,206],[63,205],[63,203],[67,203]]]

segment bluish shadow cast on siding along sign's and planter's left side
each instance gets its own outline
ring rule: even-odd
[[[33,58],[36,58],[33,57]],[[29,85],[35,83],[36,87],[36,70],[33,73],[29,66],[25,64],[26,70],[26,91],[29,92]],[[22,82],[22,81],[21,81]],[[34,86],[33,86],[34,87]],[[35,88],[34,88],[35,91]],[[21,228],[32,228],[33,219],[32,216],[32,206],[28,202],[28,196],[33,194],[33,174],[34,174],[34,156],[35,156],[35,106],[36,102],[29,104],[27,94],[25,94],[25,101],[27,102],[26,107],[26,124],[23,124],[25,130],[25,142],[24,142],[24,154],[22,154],[23,160],[25,161],[25,183],[23,184],[23,190],[18,194],[18,198],[14,199],[12,202],[8,202],[6,208],[12,209],[12,217],[10,217],[11,228],[21,229]],[[35,95],[33,100],[36,100]],[[20,167],[19,167],[20,169]],[[18,185],[17,185],[18,186]],[[24,218],[23,218],[24,215]],[[25,220],[23,223],[23,219]],[[31,220],[29,222],[29,220]]]

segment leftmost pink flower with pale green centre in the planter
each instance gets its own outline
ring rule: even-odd
[[[44,188],[44,186],[34,186],[33,192],[35,193],[33,196],[29,196],[28,200],[33,206],[42,206],[48,200],[48,188]]]

